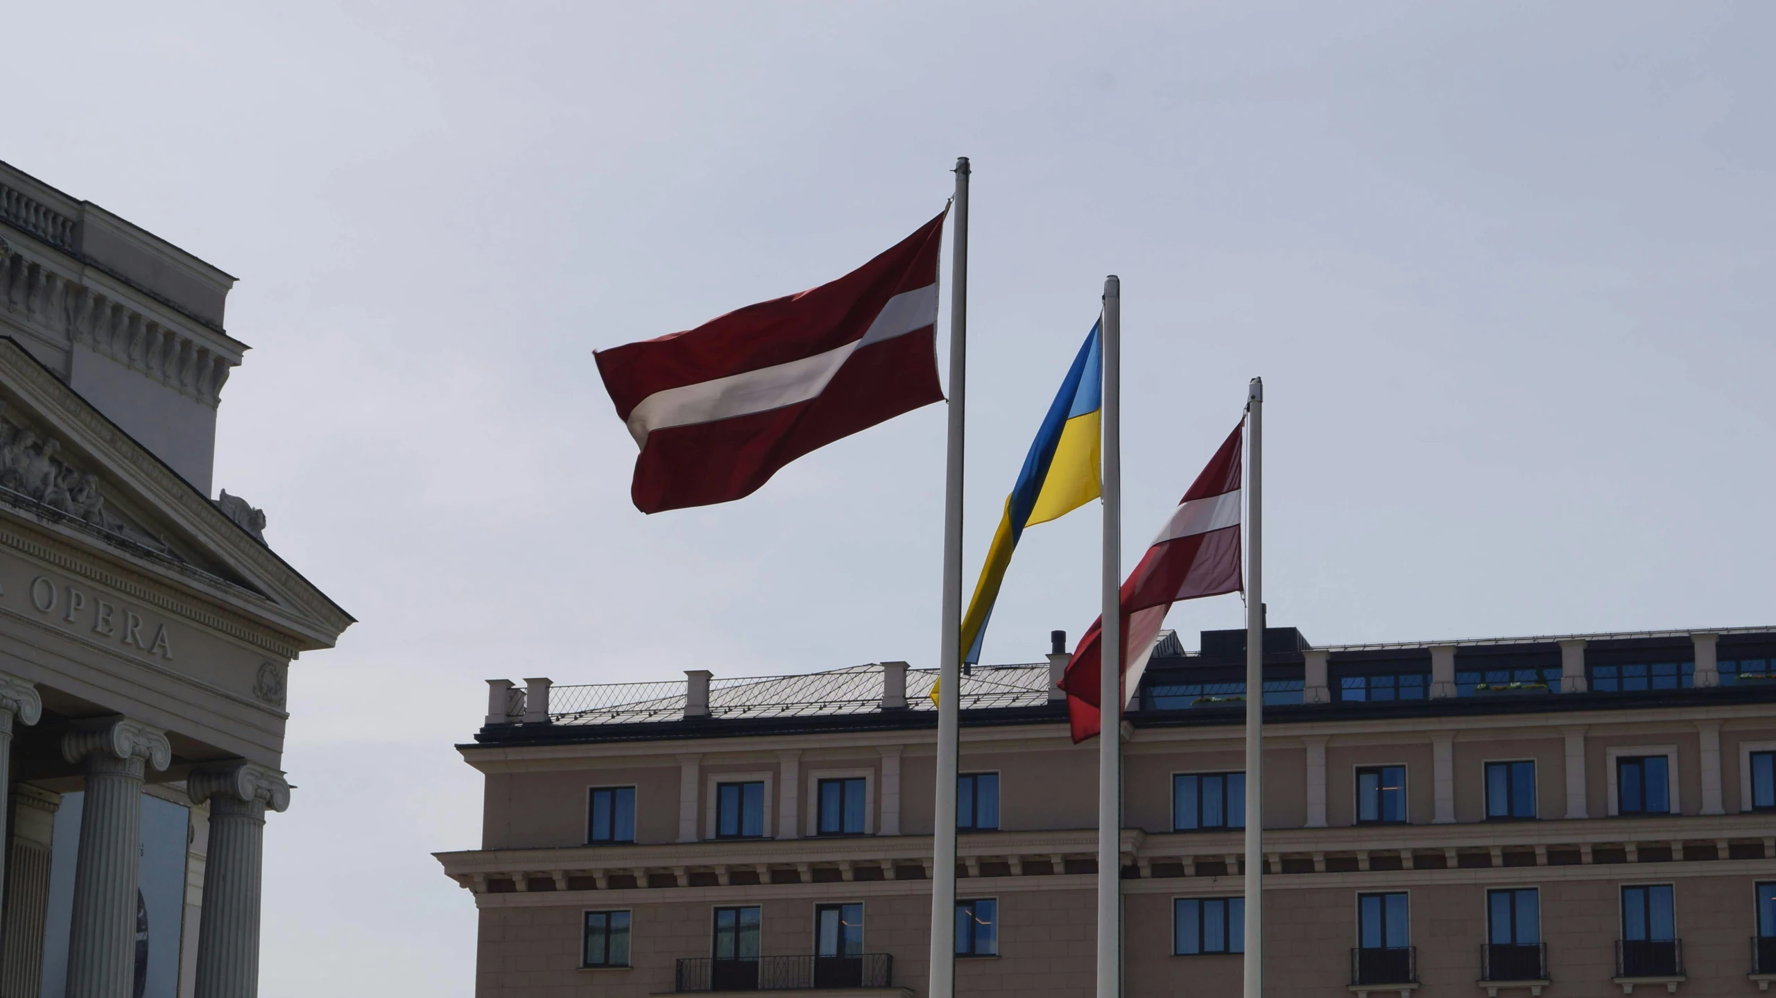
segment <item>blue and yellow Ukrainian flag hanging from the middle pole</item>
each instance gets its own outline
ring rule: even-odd
[[[1053,405],[1043,419],[1030,453],[1023,458],[1018,485],[1005,497],[1005,515],[993,535],[987,561],[980,566],[975,597],[963,616],[964,662],[980,661],[980,643],[986,639],[987,618],[998,600],[1000,582],[1011,566],[1011,552],[1023,536],[1023,527],[1046,524],[1098,499],[1098,467],[1103,442],[1103,376],[1099,375],[1101,325],[1094,325],[1080,355],[1060,382]]]

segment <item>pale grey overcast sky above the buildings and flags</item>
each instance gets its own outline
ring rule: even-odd
[[[266,998],[472,993],[474,907],[430,852],[480,842],[451,746],[481,680],[934,664],[941,405],[643,517],[591,350],[851,270],[957,154],[970,584],[1119,273],[1128,565],[1261,375],[1275,625],[1776,618],[1767,4],[5,21],[0,158],[240,277],[217,487],[362,622],[291,669]],[[1090,623],[1096,536],[1096,508],[1025,535],[987,661]],[[1240,602],[1170,620],[1195,646]]]

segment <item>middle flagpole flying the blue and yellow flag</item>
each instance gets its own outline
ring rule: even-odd
[[[1122,282],[1105,277],[1103,625],[1098,657],[1098,998],[1122,994]]]

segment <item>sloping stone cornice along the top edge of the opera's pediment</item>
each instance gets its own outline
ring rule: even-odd
[[[18,343],[0,339],[0,382],[71,444],[121,471],[126,485],[139,490],[140,504],[155,510],[201,547],[250,579],[270,600],[254,604],[236,593],[215,590],[210,595],[234,604],[236,613],[261,618],[284,630],[298,650],[330,648],[353,618],[313,582],[297,574],[282,558],[252,538],[215,503],[192,488],[155,455],[105,419],[85,400],[67,389]]]

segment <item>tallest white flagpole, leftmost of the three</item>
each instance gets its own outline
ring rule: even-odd
[[[938,788],[932,806],[931,998],[955,994],[955,755],[963,693],[963,403],[968,389],[968,156],[955,160],[950,288],[950,444],[943,471],[943,639],[938,643]]]

